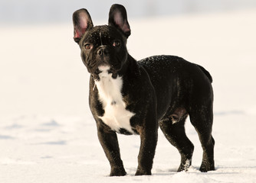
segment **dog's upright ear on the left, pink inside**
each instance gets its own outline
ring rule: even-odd
[[[73,25],[74,25],[74,41],[79,43],[87,30],[94,27],[93,21],[90,18],[90,14],[86,9],[80,9],[74,11],[73,14]]]

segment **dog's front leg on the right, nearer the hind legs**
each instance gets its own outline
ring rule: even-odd
[[[138,168],[135,175],[151,175],[157,143],[157,127],[140,133]]]

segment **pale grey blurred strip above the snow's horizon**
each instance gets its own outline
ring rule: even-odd
[[[122,4],[128,8],[130,18],[232,11],[256,7],[256,1],[254,0],[1,0],[0,23],[70,22],[71,14],[79,8],[90,10],[94,19],[106,19],[109,7],[114,3]]]

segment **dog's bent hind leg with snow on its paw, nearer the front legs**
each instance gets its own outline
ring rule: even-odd
[[[178,172],[189,169],[189,166],[192,163],[192,154],[194,151],[192,142],[185,135],[185,118],[186,117],[182,117],[182,119],[174,123],[173,117],[169,117],[169,119],[162,120],[159,123],[166,139],[179,150],[181,163],[179,165]]]

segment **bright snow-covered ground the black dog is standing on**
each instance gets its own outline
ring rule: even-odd
[[[255,21],[255,9],[130,20],[136,59],[172,54],[211,72],[216,171],[199,172],[202,149],[187,121],[189,172],[176,172],[179,152],[159,131],[152,176],[134,176],[139,136],[119,135],[128,173],[120,178],[108,176],[72,22],[1,27],[0,182],[256,182]]]

